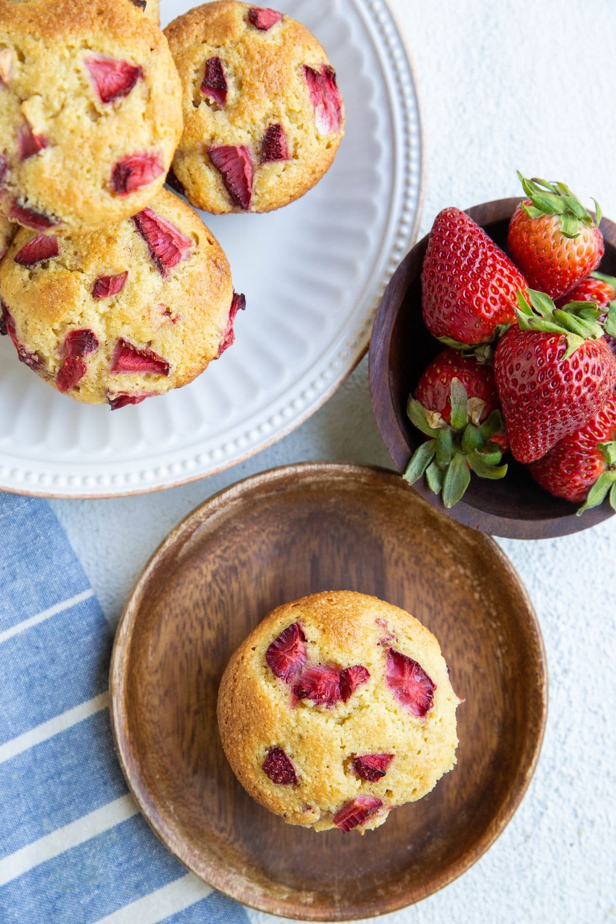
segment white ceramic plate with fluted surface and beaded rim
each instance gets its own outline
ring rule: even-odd
[[[163,0],[163,23],[190,6]],[[365,352],[380,295],[419,221],[412,68],[383,0],[272,6],[306,23],[330,55],[346,135],[303,199],[268,215],[202,215],[246,293],[235,345],[185,388],[110,412],[56,394],[3,337],[0,489],[103,497],[210,475],[307,419]]]

